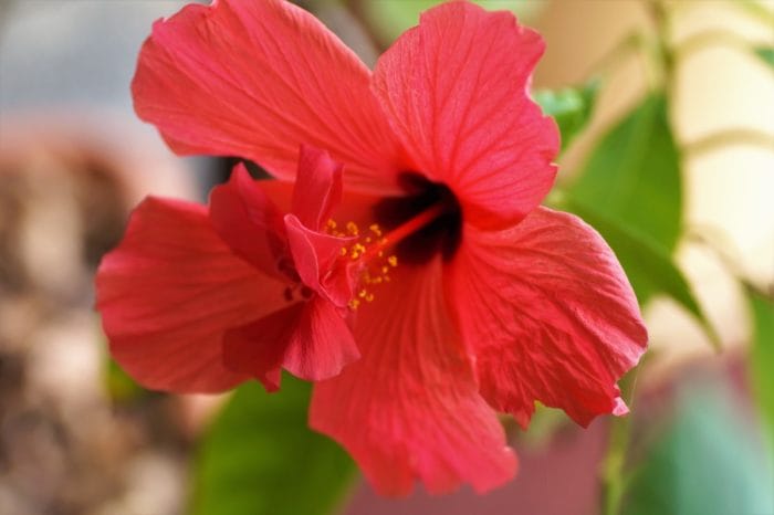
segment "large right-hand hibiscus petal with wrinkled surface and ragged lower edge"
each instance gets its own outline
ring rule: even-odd
[[[448,293],[490,404],[524,427],[536,400],[582,425],[625,410],[616,381],[648,336],[602,237],[545,208],[509,230],[464,231]]]

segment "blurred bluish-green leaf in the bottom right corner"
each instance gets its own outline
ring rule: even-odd
[[[635,470],[621,513],[774,513],[771,462],[750,420],[729,387],[703,380],[683,390],[674,419]]]

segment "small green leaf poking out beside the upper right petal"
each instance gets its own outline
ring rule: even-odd
[[[559,91],[541,90],[534,97],[543,113],[553,116],[562,133],[562,150],[586,127],[599,92],[599,81]]]

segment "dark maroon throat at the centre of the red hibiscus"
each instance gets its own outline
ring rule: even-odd
[[[421,264],[437,252],[450,259],[462,237],[462,208],[448,186],[432,182],[415,171],[399,177],[405,196],[388,197],[374,207],[376,221],[387,231],[421,220],[422,213],[431,219],[415,228],[395,245],[395,253],[405,263]]]

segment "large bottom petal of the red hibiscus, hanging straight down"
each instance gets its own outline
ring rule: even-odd
[[[398,267],[357,312],[360,360],[314,389],[310,423],[383,494],[407,494],[417,477],[433,493],[460,482],[483,492],[515,472],[446,314],[440,271],[440,259]]]

